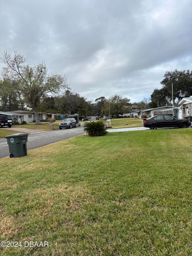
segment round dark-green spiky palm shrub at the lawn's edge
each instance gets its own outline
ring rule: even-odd
[[[104,136],[107,134],[107,131],[105,129],[105,124],[102,120],[98,120],[96,122],[85,122],[84,123],[84,131],[89,136]]]

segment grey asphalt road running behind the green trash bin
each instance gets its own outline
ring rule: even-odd
[[[81,134],[84,134],[83,126],[72,129],[53,130],[46,132],[38,132],[36,134],[28,135],[27,149],[38,148],[60,140],[66,140]],[[0,139],[0,158],[9,156],[9,148],[7,140]]]

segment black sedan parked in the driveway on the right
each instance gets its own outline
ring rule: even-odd
[[[180,127],[187,128],[190,126],[190,120],[177,119],[169,115],[156,115],[143,119],[143,126],[150,129]]]

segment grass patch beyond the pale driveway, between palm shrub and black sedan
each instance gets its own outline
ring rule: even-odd
[[[109,122],[108,122],[109,124]],[[129,128],[129,127],[141,127],[142,119],[134,118],[117,118],[111,119],[112,129],[114,128]]]

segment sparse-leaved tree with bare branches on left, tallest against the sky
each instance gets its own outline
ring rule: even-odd
[[[18,52],[14,52],[13,57],[8,52],[4,52],[2,62],[6,65],[4,73],[10,79],[14,78],[19,81],[17,90],[25,102],[34,110],[36,124],[41,124],[38,115],[40,102],[45,96],[57,94],[68,88],[66,76],[49,75],[44,62],[30,67],[26,64],[26,58]]]

